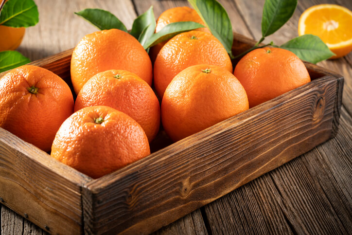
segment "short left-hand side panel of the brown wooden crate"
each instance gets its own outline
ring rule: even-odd
[[[90,178],[0,128],[0,202],[53,234],[81,234]]]

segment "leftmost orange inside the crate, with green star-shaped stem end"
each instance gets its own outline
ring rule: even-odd
[[[72,112],[69,86],[49,70],[24,65],[0,79],[0,127],[44,151]]]

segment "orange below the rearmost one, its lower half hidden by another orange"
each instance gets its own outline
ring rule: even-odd
[[[158,95],[162,97],[177,73],[197,64],[217,65],[232,72],[229,54],[215,36],[189,31],[170,39],[161,48],[154,63],[154,85]]]

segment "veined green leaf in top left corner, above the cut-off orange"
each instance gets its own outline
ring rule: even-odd
[[[0,25],[14,28],[33,26],[39,21],[38,8],[33,0],[9,0],[0,12]]]

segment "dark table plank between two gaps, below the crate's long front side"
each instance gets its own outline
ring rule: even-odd
[[[292,234],[270,177],[264,176],[204,206],[212,234]]]

